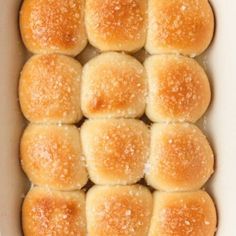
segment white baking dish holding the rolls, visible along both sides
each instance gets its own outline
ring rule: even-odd
[[[18,30],[20,0],[0,0],[0,235],[20,236],[20,207],[28,181],[19,165],[19,137],[25,122],[17,100],[19,72],[27,57]],[[208,183],[219,214],[219,236],[236,235],[236,1],[212,0],[217,28],[202,56],[214,92],[202,120],[216,153]]]

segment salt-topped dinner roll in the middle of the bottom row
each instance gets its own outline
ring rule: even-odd
[[[141,185],[94,186],[87,193],[89,236],[147,236],[152,195]]]

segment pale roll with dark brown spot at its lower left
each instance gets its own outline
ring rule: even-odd
[[[103,53],[83,68],[81,108],[89,118],[138,117],[144,113],[146,73],[135,58]]]

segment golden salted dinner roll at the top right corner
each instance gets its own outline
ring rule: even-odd
[[[210,44],[214,15],[208,0],[149,0],[146,50],[196,56]]]

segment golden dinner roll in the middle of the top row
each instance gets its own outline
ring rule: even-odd
[[[146,39],[147,0],[87,0],[89,42],[101,51],[137,51]]]

